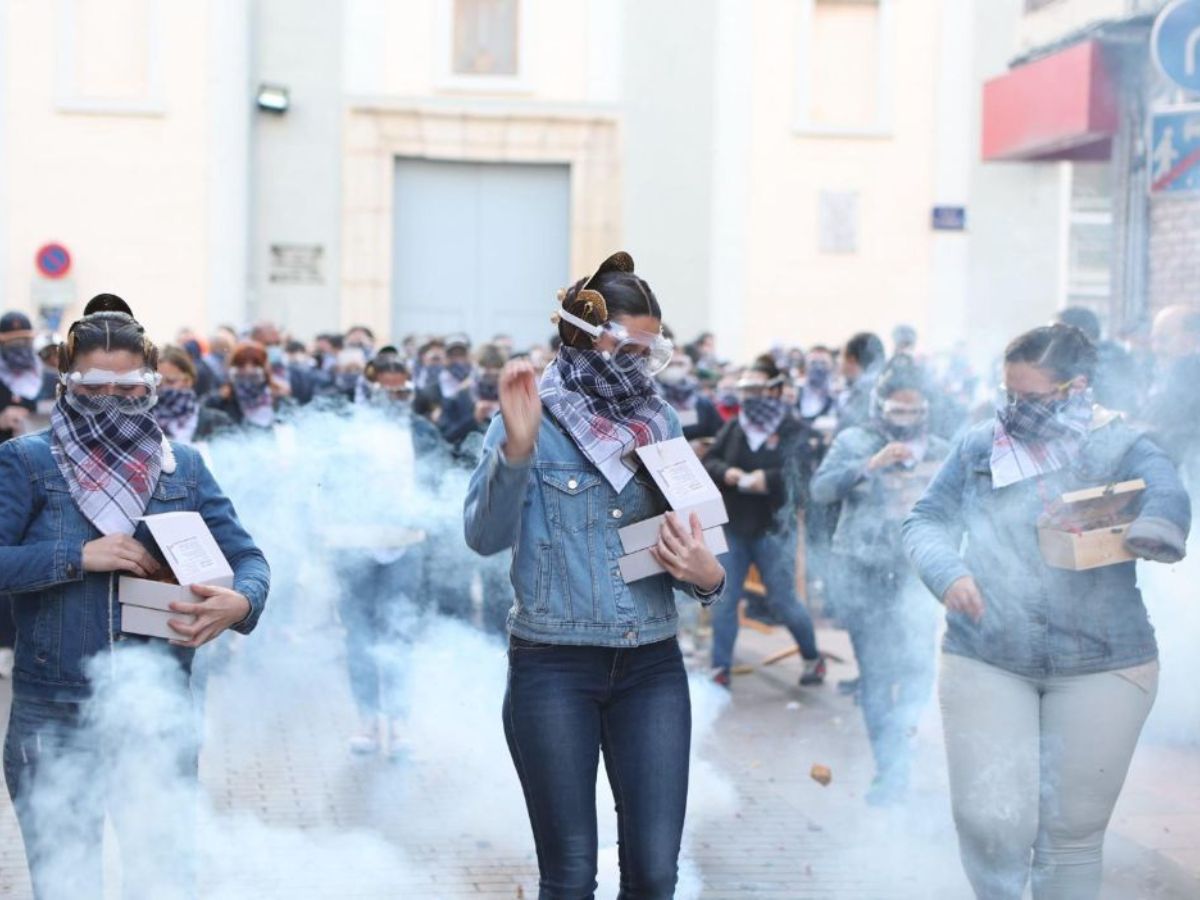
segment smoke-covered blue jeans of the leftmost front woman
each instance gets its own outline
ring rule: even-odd
[[[181,702],[190,701],[184,697]],[[173,721],[190,728],[194,720],[179,716]],[[108,745],[109,737],[104,730],[89,727],[83,703],[23,696],[12,700],[4,775],[25,842],[34,896],[103,896],[106,811],[120,839],[125,896],[194,896],[196,733],[143,736],[143,750],[149,740],[169,742],[160,745],[170,748],[168,770],[144,775],[148,781],[161,776],[173,782],[169,799],[162,803],[146,796],[146,784],[122,790],[120,784],[109,782],[114,752],[121,752]],[[122,737],[128,736],[116,739]],[[161,756],[155,756],[161,762]],[[130,761],[119,768],[128,774]],[[154,840],[146,840],[149,835]]]

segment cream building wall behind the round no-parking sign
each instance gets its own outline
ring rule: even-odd
[[[8,0],[0,48],[6,306],[32,308],[35,251],[56,240],[74,260],[66,320],[107,290],[160,340],[210,324],[210,294],[228,284],[210,280],[222,264],[214,251],[230,229],[236,239],[241,216],[236,203],[214,203],[223,176],[211,108],[221,79],[210,78],[218,5]],[[236,31],[236,17],[223,22]]]

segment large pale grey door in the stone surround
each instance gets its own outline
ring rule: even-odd
[[[570,168],[396,160],[392,336],[552,332],[568,281]]]

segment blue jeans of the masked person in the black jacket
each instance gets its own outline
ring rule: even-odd
[[[725,556],[728,596],[713,607],[713,668],[733,667],[738,640],[738,601],[751,565],[758,568],[767,588],[767,606],[787,626],[804,659],[816,659],[817,636],[809,611],[796,598],[796,533],[768,532],[744,538],[726,529],[730,552]]]

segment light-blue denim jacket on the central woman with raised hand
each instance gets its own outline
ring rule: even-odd
[[[673,410],[670,416],[671,437],[679,437],[679,420]],[[617,530],[666,510],[644,469],[618,494],[545,409],[529,460],[509,462],[504,442],[498,415],[470,478],[463,521],[476,553],[512,550],[509,630],[516,637],[638,647],[674,636],[676,588],[706,605],[720,598],[724,582],[702,595],[666,574],[632,584],[622,580]]]

